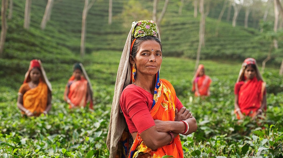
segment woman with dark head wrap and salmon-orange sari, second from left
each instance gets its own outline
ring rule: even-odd
[[[93,109],[92,94],[91,83],[83,64],[75,63],[73,75],[69,79],[64,92],[64,100],[69,104],[69,109],[85,107],[87,102],[90,102],[89,108]]]

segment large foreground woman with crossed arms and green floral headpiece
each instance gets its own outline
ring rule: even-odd
[[[179,134],[195,132],[197,123],[171,83],[159,79],[161,63],[155,22],[133,22],[117,72],[106,142],[110,158],[184,157]]]

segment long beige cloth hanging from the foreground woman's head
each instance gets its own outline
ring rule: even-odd
[[[111,114],[110,114],[110,123],[109,123],[109,129],[108,129],[108,135],[106,141],[107,148],[110,151],[110,155],[109,155],[110,158],[115,158],[117,152],[117,143],[119,142],[122,136],[122,132],[127,126],[125,118],[122,114],[122,110],[120,108],[120,97],[123,89],[127,85],[131,84],[130,82],[131,82],[132,65],[130,64],[129,57],[130,57],[133,28],[136,26],[138,22],[134,21],[132,23],[132,28],[130,29],[130,32],[128,34],[118,67]],[[158,28],[157,31],[159,32]],[[157,34],[157,38],[160,39],[159,33]]]

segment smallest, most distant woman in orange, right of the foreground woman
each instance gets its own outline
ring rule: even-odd
[[[195,92],[195,96],[209,96],[209,86],[211,82],[212,80],[209,78],[209,76],[205,75],[204,73],[203,64],[200,64],[192,82],[192,91]]]

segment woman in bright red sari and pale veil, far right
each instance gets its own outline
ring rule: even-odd
[[[259,73],[256,60],[247,58],[235,84],[235,114],[238,119],[250,116],[255,119],[266,110],[266,83]]]

